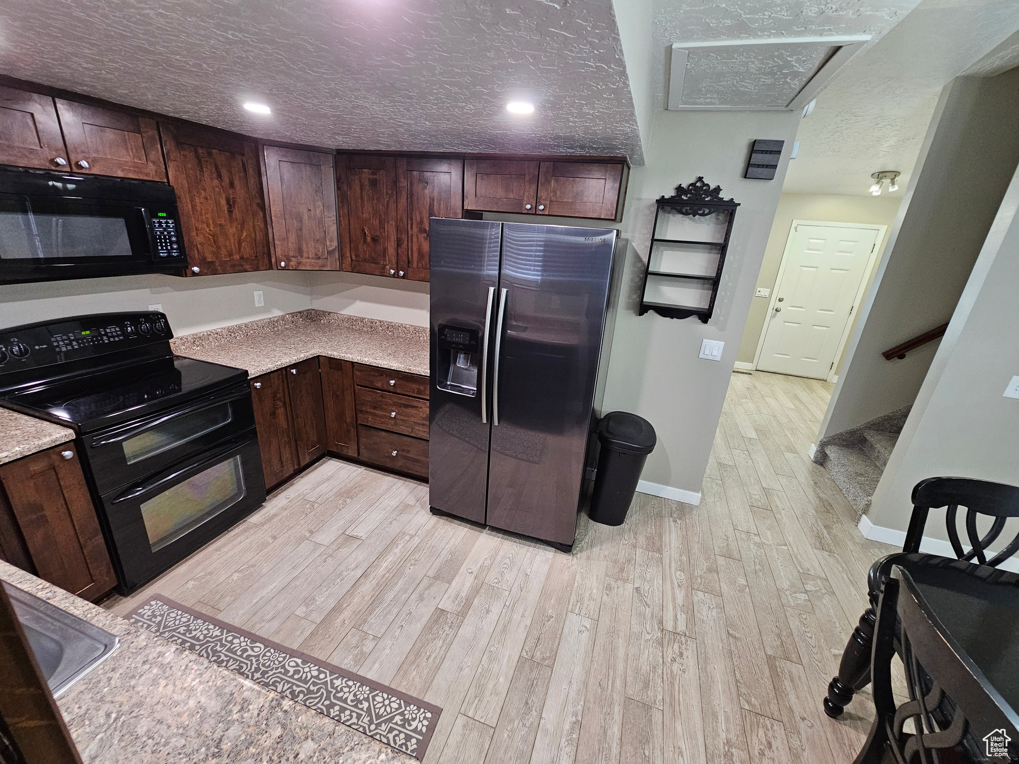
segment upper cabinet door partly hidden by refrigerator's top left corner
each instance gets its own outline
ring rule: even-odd
[[[396,160],[396,275],[428,280],[429,218],[464,216],[464,160]]]

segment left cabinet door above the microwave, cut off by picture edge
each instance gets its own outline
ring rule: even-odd
[[[52,98],[0,87],[0,164],[50,170],[67,167]]]

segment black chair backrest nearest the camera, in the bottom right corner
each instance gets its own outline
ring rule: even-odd
[[[898,707],[891,673],[897,641],[910,697]],[[886,580],[878,604],[871,670],[877,711],[871,736],[880,732],[900,764],[940,762],[934,752],[957,746],[979,754],[977,760],[984,760],[984,744],[988,751],[1001,744],[1007,757],[1019,753],[1015,711],[899,565]],[[912,732],[906,729],[909,719]]]

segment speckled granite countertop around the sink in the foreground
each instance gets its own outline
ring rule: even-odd
[[[0,579],[120,638],[57,700],[85,764],[417,761],[3,561]]]

